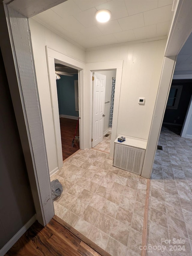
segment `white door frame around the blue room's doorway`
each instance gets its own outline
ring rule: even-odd
[[[55,133],[55,145],[57,154],[57,164],[58,169],[63,166],[63,156],[62,156],[62,145],[61,145],[61,130],[59,122],[59,109],[58,109],[58,96],[57,96],[57,86],[55,80],[55,60],[57,63],[67,65],[78,70],[78,90],[79,90],[79,147],[84,149],[84,105],[83,105],[83,81],[84,81],[84,69],[85,63],[77,61],[76,59],[69,57],[61,52],[58,52],[46,45],[46,59],[47,59],[47,70],[49,77],[49,89],[51,96],[51,106],[52,106],[52,117]],[[57,171],[57,170],[56,170]],[[55,172],[55,170],[54,170]],[[50,173],[52,174],[52,173]]]

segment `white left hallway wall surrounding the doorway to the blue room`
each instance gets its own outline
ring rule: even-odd
[[[50,172],[57,169],[58,165],[45,46],[47,45],[82,62],[85,62],[85,52],[32,18],[29,19],[29,23]]]

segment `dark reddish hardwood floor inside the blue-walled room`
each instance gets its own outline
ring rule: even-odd
[[[77,120],[60,117],[61,143],[63,160],[75,153],[79,149],[79,142],[75,142],[72,147],[72,140],[75,134]],[[79,136],[79,125],[76,136]]]

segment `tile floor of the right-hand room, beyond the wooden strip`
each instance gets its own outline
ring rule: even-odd
[[[148,255],[191,256],[192,139],[171,130],[161,129],[158,145],[163,146],[163,151],[157,150],[155,155],[148,218],[148,245],[167,246],[164,252],[152,249]],[[173,238],[182,238],[185,243],[174,244]],[[161,243],[161,239],[171,242]],[[183,245],[185,251],[179,251]]]

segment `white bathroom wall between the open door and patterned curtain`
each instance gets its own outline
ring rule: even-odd
[[[116,77],[116,70],[105,70],[98,71],[98,73],[106,76],[106,87],[105,87],[105,117],[104,117],[104,127],[103,132],[107,133],[109,131],[109,117],[110,117],[110,107],[111,107],[111,90],[112,90],[112,77]]]

